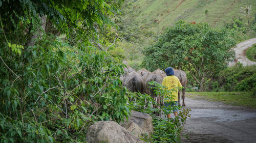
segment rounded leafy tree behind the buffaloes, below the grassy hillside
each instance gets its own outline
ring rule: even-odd
[[[186,69],[204,91],[206,79],[234,59],[235,45],[225,30],[214,30],[207,23],[178,21],[154,45],[143,50],[143,65],[151,71],[166,67]]]

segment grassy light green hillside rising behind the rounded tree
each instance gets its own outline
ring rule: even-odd
[[[245,40],[255,36],[256,24],[247,25],[247,18],[241,12],[241,7],[250,6],[249,20],[252,22],[256,17],[255,0],[134,0],[126,1],[121,9],[120,25],[125,33],[135,33],[136,44],[118,42],[117,46],[124,49],[125,60],[129,65],[136,68],[141,63],[143,55],[141,51],[147,45],[153,44],[159,34],[166,27],[172,26],[178,20],[186,22],[207,22],[213,28],[223,28],[231,23],[232,18],[242,18],[250,34],[239,40]],[[239,35],[241,32],[234,33]],[[248,33],[248,31],[247,31]],[[251,34],[252,33],[252,34]],[[242,34],[241,34],[242,35]],[[139,39],[139,40],[138,40]],[[239,40],[237,40],[239,42]]]

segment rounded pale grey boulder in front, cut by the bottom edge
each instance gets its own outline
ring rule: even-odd
[[[86,134],[86,141],[89,143],[109,142],[109,143],[126,143],[145,141],[138,138],[136,135],[127,131],[114,121],[99,121],[89,127]]]

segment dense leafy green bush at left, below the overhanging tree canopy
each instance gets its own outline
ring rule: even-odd
[[[7,45],[0,51],[2,142],[79,142],[90,124],[130,112],[122,65],[104,51],[46,35],[20,55]]]

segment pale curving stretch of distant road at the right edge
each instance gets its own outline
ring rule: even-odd
[[[256,38],[252,38],[238,43],[237,48],[234,48],[234,51],[236,51],[236,58],[238,59],[238,62],[242,63],[244,66],[256,65],[256,62],[250,61],[246,58],[245,55],[246,49],[251,47],[253,44],[256,44]]]

